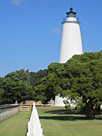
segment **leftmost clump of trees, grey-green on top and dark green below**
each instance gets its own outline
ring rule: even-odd
[[[0,103],[12,103],[15,100],[21,102],[24,99],[33,99],[34,88],[32,88],[30,87],[28,70],[21,69],[8,73],[4,78],[0,78]]]

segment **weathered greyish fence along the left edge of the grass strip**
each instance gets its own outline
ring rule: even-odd
[[[19,105],[0,105],[0,122],[15,115],[20,111]]]

